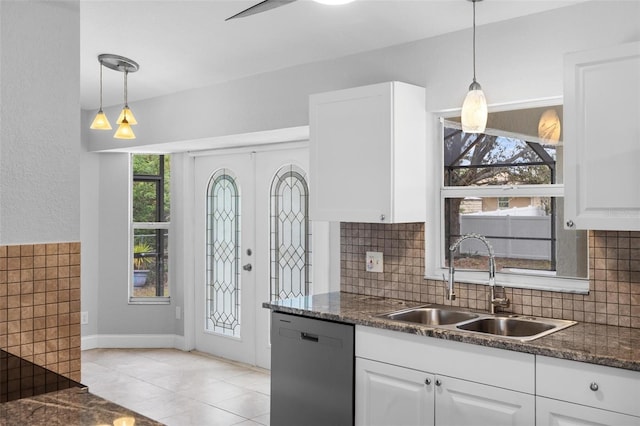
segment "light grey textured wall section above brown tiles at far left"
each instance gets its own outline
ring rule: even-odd
[[[80,240],[80,6],[0,2],[0,244]]]

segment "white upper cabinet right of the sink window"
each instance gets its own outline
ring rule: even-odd
[[[564,92],[565,226],[640,230],[640,43],[567,55]]]

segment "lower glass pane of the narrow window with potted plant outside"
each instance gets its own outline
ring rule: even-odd
[[[168,247],[166,229],[134,230],[132,297],[169,296]]]

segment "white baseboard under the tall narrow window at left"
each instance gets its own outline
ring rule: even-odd
[[[175,334],[94,334],[82,336],[80,349],[175,348],[188,351],[184,336]]]

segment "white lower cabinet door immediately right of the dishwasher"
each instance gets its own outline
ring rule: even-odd
[[[356,358],[356,425],[433,425],[433,376]]]

